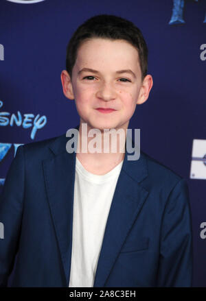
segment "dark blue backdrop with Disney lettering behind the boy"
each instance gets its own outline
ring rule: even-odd
[[[1,0],[0,193],[19,145],[79,123],[60,73],[76,28],[115,14],[139,27],[154,86],[129,128],[141,149],[187,180],[192,208],[194,287],[206,287],[206,1]]]

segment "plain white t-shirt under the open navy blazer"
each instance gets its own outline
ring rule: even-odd
[[[98,176],[84,169],[76,157],[69,287],[93,287],[106,221],[123,161],[108,173]]]

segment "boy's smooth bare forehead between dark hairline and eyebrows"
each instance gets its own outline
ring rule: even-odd
[[[138,69],[139,54],[137,49],[126,40],[92,38],[80,45],[76,59],[78,67],[91,67],[91,64],[93,67],[104,67],[108,64],[111,67],[117,65],[122,68]]]

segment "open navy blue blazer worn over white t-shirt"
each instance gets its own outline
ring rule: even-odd
[[[17,149],[0,198],[1,287],[69,285],[76,153],[67,152],[68,140],[63,134]],[[93,286],[190,287],[187,183],[144,152],[139,160],[127,154]]]

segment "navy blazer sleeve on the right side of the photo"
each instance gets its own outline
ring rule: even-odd
[[[192,217],[187,182],[170,192],[161,225],[158,287],[191,287]]]

